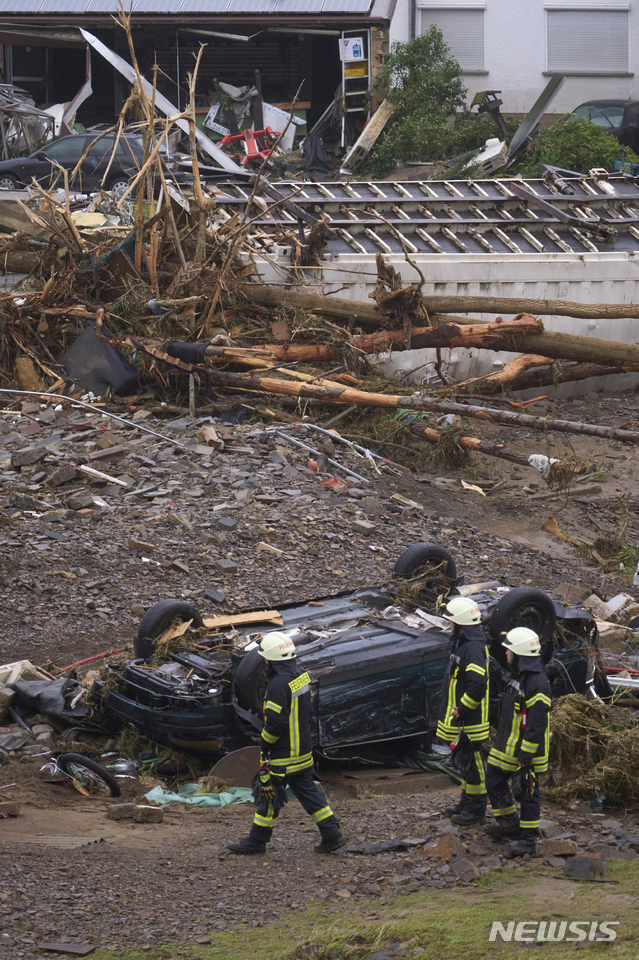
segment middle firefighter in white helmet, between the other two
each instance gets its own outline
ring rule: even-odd
[[[482,744],[488,738],[488,647],[479,607],[470,597],[453,597],[444,616],[453,624],[453,652],[444,680],[437,738],[454,744],[463,730],[473,746],[473,766],[464,774],[459,803],[446,808],[453,823],[483,823],[486,777]]]

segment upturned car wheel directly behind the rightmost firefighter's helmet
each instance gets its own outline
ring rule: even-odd
[[[555,605],[543,590],[534,587],[515,587],[501,598],[490,618],[489,631],[493,638],[492,653],[500,663],[506,662],[501,645],[504,635],[514,627],[528,627],[541,641],[541,659],[548,663],[553,653],[553,634],[557,614]]]

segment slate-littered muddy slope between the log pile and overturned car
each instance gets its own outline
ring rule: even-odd
[[[639,424],[639,396],[541,401],[527,411],[632,428]],[[381,584],[402,549],[418,541],[447,547],[466,582],[499,578],[510,586],[553,589],[572,580],[600,593],[633,592],[631,581],[620,579],[617,571],[606,572],[540,528],[552,515],[562,531],[592,542],[614,536],[625,516],[624,538],[636,544],[635,446],[475,420],[469,421],[474,435],[505,440],[527,455],[587,461],[589,471],[605,471],[603,478],[557,496],[532,467],[494,457],[475,454],[455,471],[426,461],[421,474],[384,470],[378,476],[348,455],[344,462],[370,482],[355,481],[347,493],[322,485],[328,474],[313,474],[307,454],[281,438],[260,443],[252,435],[254,425],[228,428],[240,444],[237,452],[227,443],[224,452],[209,456],[85,411],[71,411],[50,425],[37,424],[34,417],[37,413],[0,415],[0,430],[7,431],[0,435],[0,509],[5,512],[0,523],[0,662],[26,657],[64,666],[121,646],[134,635],[141,608],[163,597],[189,597],[210,613],[272,608]],[[180,443],[196,442],[198,427],[187,421],[143,422]],[[40,433],[21,434],[34,425]],[[311,445],[319,442],[308,434],[302,437]],[[47,482],[54,469],[86,462],[97,441],[125,448],[123,459],[92,465],[124,477],[128,487],[87,484],[81,474],[57,487]],[[36,446],[47,448],[44,461],[11,468],[16,450]],[[336,456],[344,459],[339,448]],[[463,488],[462,479],[507,483],[481,496]],[[600,492],[592,492],[593,486]],[[105,506],[91,504],[88,514],[67,510],[74,491],[99,495]],[[25,504],[16,500],[20,494],[39,502]],[[394,494],[422,509],[395,502]],[[234,521],[232,529],[220,530],[220,518]],[[352,529],[358,518],[374,525],[372,533]],[[260,543],[283,551],[282,556],[260,550]],[[232,561],[236,571],[221,573],[219,560]],[[222,591],[225,602],[207,599],[206,588]]]

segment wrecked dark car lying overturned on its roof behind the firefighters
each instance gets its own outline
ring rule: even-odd
[[[501,639],[513,626],[539,633],[554,696],[596,696],[597,627],[590,613],[531,587],[464,587],[461,579],[446,550],[422,543],[402,553],[384,588],[288,604],[280,608],[283,626],[254,623],[212,635],[192,604],[161,600],[142,619],[137,659],[109,667],[94,697],[104,713],[159,743],[212,753],[238,749],[258,736],[265,661],[257,639],[279,629],[292,637],[312,677],[319,753],[348,756],[380,741],[428,740],[451,651],[448,623],[436,611],[458,592],[477,601],[490,637],[494,717],[509,679]],[[157,662],[157,638],[177,620],[192,621],[189,635],[195,630],[198,647],[184,643]]]

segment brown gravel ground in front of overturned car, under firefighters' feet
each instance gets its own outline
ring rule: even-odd
[[[446,790],[342,800],[336,810],[354,844],[452,834],[465,845],[465,859],[479,875],[529,869],[525,862],[500,858],[499,845],[480,829],[459,832],[452,827],[442,817],[442,807],[455,796],[456,791]],[[107,820],[105,806],[81,798],[63,811],[27,805],[23,817],[2,821],[0,830],[13,834],[10,842],[0,842],[3,960],[34,960],[42,956],[38,943],[63,936],[99,942],[116,956],[133,947],[148,948],[152,955],[153,946],[163,943],[214,943],[216,932],[240,923],[294,926],[295,911],[311,903],[323,902],[330,915],[346,901],[384,900],[464,883],[455,876],[455,864],[427,859],[423,846],[376,856],[344,850],[316,854],[317,831],[295,803],[281,814],[268,854],[251,858],[226,851],[228,839],[247,831],[249,805],[222,811],[174,805],[162,824],[126,826]],[[544,805],[542,816],[574,836],[582,853],[605,849],[608,855],[637,857],[618,849],[624,846],[624,833],[637,830],[630,820],[607,820],[582,804],[568,812]],[[29,830],[51,835],[52,825],[60,836],[65,817],[64,835],[105,837],[105,842],[72,850],[24,842]],[[543,862],[557,867],[565,861],[553,857]]]

